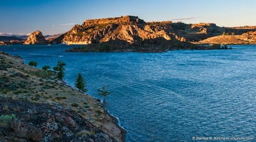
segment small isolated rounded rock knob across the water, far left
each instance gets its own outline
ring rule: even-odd
[[[24,44],[47,44],[48,41],[43,37],[43,34],[41,31],[35,31],[34,33],[31,33],[29,37],[26,39]]]

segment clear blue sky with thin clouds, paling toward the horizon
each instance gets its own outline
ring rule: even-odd
[[[256,26],[256,0],[0,0],[0,35],[66,33],[86,19],[138,16],[144,21]]]

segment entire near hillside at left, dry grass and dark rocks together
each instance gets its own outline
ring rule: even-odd
[[[19,56],[1,51],[0,102],[1,115],[16,115],[9,129],[3,127],[0,119],[0,141],[122,138],[121,129],[95,99],[57,80],[53,72],[29,67]],[[18,131],[17,123],[24,131]],[[41,134],[32,137],[29,133]]]

